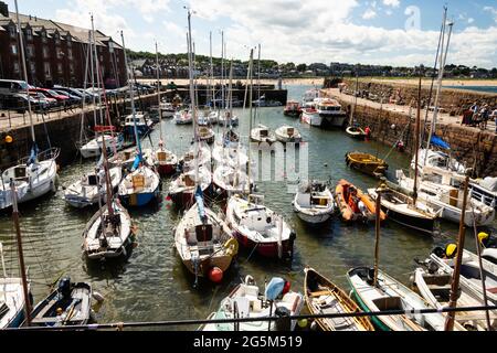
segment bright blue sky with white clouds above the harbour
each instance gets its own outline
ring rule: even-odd
[[[3,0],[6,1],[6,0]],[[14,1],[7,0],[10,11]],[[19,12],[91,28],[126,47],[160,53],[187,51],[187,10],[195,53],[279,63],[361,63],[433,66],[443,6],[454,22],[447,64],[497,67],[497,0],[18,0]],[[255,53],[256,54],[256,53]]]

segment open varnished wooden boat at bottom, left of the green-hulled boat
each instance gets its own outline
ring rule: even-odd
[[[304,295],[311,314],[361,311],[347,293],[313,268],[305,268]],[[316,319],[324,331],[374,331],[367,317]]]

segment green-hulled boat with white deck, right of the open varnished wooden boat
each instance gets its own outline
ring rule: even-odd
[[[382,312],[389,310],[414,311],[412,315],[377,315],[371,321],[383,331],[444,331],[445,318],[442,313],[417,313],[416,310],[431,309],[430,304],[413,290],[378,269],[356,267],[347,272],[347,280],[362,310]]]

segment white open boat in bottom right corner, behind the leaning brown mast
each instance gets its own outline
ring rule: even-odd
[[[431,264],[431,263],[430,263]],[[432,308],[442,309],[448,307],[452,275],[446,270],[438,268],[433,270],[432,265],[427,265],[429,270],[421,267],[414,270],[413,285],[420,295],[430,303]],[[475,296],[465,287],[459,286],[459,296],[457,298],[457,307],[484,307],[480,297]],[[497,311],[490,311],[490,327],[497,328]],[[444,314],[446,315],[446,313]],[[487,329],[484,311],[461,311],[455,314],[455,322],[461,325],[459,330],[478,330]]]

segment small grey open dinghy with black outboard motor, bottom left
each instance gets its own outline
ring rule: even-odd
[[[71,278],[60,280],[56,290],[34,307],[32,327],[63,327],[87,324],[91,320],[92,286],[72,282]]]

